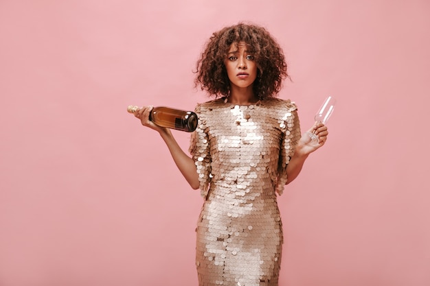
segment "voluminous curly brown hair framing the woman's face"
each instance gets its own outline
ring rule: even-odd
[[[238,23],[214,32],[196,64],[196,86],[210,95],[229,96],[230,81],[224,60],[234,43],[244,42],[251,49],[258,67],[253,92],[260,99],[275,97],[288,77],[284,52],[267,29]]]

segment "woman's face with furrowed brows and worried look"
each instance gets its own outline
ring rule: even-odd
[[[240,88],[252,86],[257,78],[257,64],[243,42],[233,43],[224,61],[231,84]]]

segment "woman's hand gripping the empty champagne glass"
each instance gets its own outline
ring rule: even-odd
[[[309,133],[313,133],[317,136],[317,139],[312,140],[309,136]],[[314,125],[304,134],[302,134],[302,138],[300,138],[297,143],[296,152],[300,152],[304,155],[308,155],[319,147],[324,145],[327,141],[328,130],[327,126],[325,126],[320,121],[314,123]]]

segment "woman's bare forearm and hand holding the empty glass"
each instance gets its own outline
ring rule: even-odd
[[[321,122],[315,122],[314,126],[310,128],[308,132],[313,132],[314,130],[315,135],[318,136],[318,141],[310,140],[308,134],[305,133],[297,143],[294,155],[286,166],[286,174],[288,178],[286,184],[293,182],[293,180],[299,176],[300,171],[302,171],[304,161],[308,158],[309,154],[326,143],[328,135],[327,127]]]

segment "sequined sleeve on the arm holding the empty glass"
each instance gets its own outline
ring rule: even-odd
[[[282,195],[286,181],[286,166],[290,162],[295,152],[295,146],[302,136],[300,132],[299,117],[297,115],[297,106],[288,102],[288,109],[282,117],[280,127],[282,130],[282,139],[280,146],[280,158],[278,165],[278,182],[276,184],[276,192]]]

